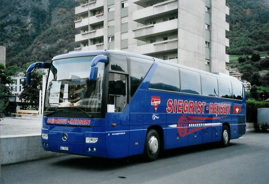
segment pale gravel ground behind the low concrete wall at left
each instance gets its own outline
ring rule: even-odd
[[[1,136],[12,136],[12,135],[23,135],[23,134],[38,134],[41,133],[42,118],[26,118],[21,119],[20,117],[4,117],[0,121],[0,135]]]

